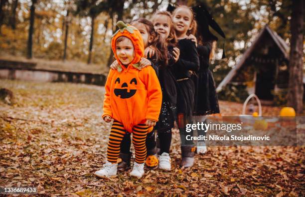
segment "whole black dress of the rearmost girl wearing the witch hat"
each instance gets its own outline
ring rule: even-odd
[[[209,56],[211,50],[211,42],[206,42],[204,45],[198,45],[200,68],[195,75],[192,75],[195,84],[195,106],[193,111],[193,115],[195,116],[219,113],[215,82],[213,74],[209,69]]]

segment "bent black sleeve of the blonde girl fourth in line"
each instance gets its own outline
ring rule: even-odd
[[[191,71],[198,71],[199,70],[199,56],[197,47],[195,46],[195,43],[188,44],[186,47],[187,51],[180,51],[180,54],[182,52],[185,52],[188,54],[188,60],[184,60],[179,58],[177,61],[177,66],[181,69],[185,70],[191,70]]]

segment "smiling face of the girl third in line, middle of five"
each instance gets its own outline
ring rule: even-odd
[[[153,27],[160,36],[166,40],[170,31],[170,18],[163,14],[157,14],[153,17]]]

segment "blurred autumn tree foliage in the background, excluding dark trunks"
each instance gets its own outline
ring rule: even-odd
[[[111,35],[115,31],[115,22],[122,19],[130,22],[136,17],[150,16],[162,5],[167,6],[169,0],[74,0],[47,1],[40,0],[36,5],[36,18],[33,35],[34,57],[60,59],[63,55],[66,11],[72,14],[68,18],[69,32],[67,42],[67,60],[86,61],[91,33],[91,20],[94,16],[95,30],[92,49],[92,61],[106,67],[110,55]],[[226,34],[226,39],[219,35],[216,54],[221,56],[225,43],[226,58],[215,60],[212,69],[216,84],[225,77],[238,58],[244,53],[251,38],[269,24],[287,40],[290,37],[290,1],[285,0],[187,0],[188,5],[206,2],[209,11]],[[16,8],[16,29],[9,22],[12,11],[12,1],[7,1],[3,7],[3,25],[1,27],[0,50],[13,55],[24,55],[28,37],[29,1],[19,1]],[[70,5],[68,5],[71,3]],[[75,7],[70,9],[68,7]],[[210,28],[211,29],[211,28]],[[108,32],[106,32],[108,30]],[[213,32],[213,30],[211,30]],[[216,32],[213,32],[217,35]],[[57,43],[53,47],[54,43]],[[244,44],[236,47],[236,43]],[[244,46],[244,47],[243,47]],[[59,52],[59,50],[62,50]]]

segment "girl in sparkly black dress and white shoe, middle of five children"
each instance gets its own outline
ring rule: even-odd
[[[171,129],[176,119],[177,90],[176,80],[172,73],[172,66],[179,58],[179,49],[176,45],[175,28],[172,16],[167,11],[158,11],[152,16],[154,29],[165,40],[167,45],[168,62],[159,66],[159,82],[162,90],[162,106],[159,121],[155,129],[159,139],[160,155],[159,169],[171,170],[169,149],[171,144]],[[149,159],[149,158],[148,158]]]

